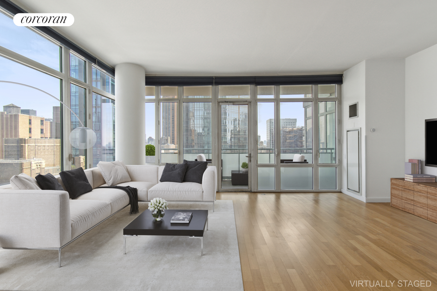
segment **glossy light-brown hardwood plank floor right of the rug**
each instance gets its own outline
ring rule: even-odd
[[[390,203],[343,193],[216,197],[233,201],[245,291],[437,290],[437,224]]]

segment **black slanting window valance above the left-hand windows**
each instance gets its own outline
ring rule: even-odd
[[[11,2],[10,0],[0,0],[0,7],[2,7],[4,10],[9,11],[10,14],[14,14],[14,15],[17,13],[27,13],[27,11],[24,11],[21,7],[18,7],[15,3]],[[114,69],[112,69],[108,65],[105,65],[103,62],[101,62],[95,56],[90,55],[89,53],[84,51],[82,48],[78,47],[76,44],[69,41],[67,38],[65,38],[64,36],[62,36],[58,32],[54,31],[51,27],[35,26],[34,28],[37,29],[38,31],[41,31],[42,33],[48,35],[49,37],[53,38],[55,41],[58,41],[60,44],[64,45],[66,48],[69,48],[70,50],[81,55],[88,62],[91,62],[94,65],[97,65],[102,70],[104,70],[109,75],[111,75],[112,77],[115,77]]]

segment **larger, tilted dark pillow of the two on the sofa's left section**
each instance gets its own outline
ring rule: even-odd
[[[80,195],[93,190],[83,168],[62,171],[59,173],[59,176],[61,176],[62,182],[64,183],[71,199],[75,199]]]

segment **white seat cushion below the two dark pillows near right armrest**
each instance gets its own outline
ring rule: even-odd
[[[148,200],[159,197],[168,201],[203,201],[203,188],[194,182],[160,182],[149,189]]]

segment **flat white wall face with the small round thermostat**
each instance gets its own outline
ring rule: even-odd
[[[366,202],[389,202],[404,176],[404,98],[405,59],[366,60]]]

